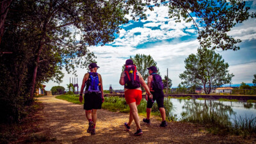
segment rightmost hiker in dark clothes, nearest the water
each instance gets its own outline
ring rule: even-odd
[[[151,108],[153,106],[153,103],[157,102],[158,109],[162,116],[162,122],[160,124],[161,127],[166,127],[167,123],[165,120],[165,109],[164,109],[164,93],[163,93],[163,81],[161,76],[157,74],[157,68],[154,66],[151,66],[148,69],[148,73],[150,76],[148,76],[148,88],[150,92],[153,94],[153,99],[150,99],[146,96],[147,100],[147,118],[143,118],[143,122],[146,124],[150,124],[150,113]]]

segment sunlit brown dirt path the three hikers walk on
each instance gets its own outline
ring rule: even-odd
[[[135,124],[131,131],[124,131],[127,113],[114,113],[105,109],[97,111],[96,134],[86,132],[88,121],[83,106],[72,104],[53,96],[38,98],[44,109],[38,113],[42,123],[38,125],[39,134],[46,134],[56,141],[46,143],[255,143],[256,138],[244,140],[240,136],[216,136],[208,134],[202,127],[194,124],[171,122],[168,127],[159,127],[159,121],[152,118],[152,124],[141,122],[142,136],[133,136]],[[142,120],[142,117],[140,117]]]

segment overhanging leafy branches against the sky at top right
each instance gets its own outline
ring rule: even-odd
[[[227,32],[237,23],[256,16],[255,12],[248,12],[250,8],[242,0],[154,0],[153,4],[147,0],[150,10],[161,4],[168,6],[170,18],[175,18],[176,22],[180,22],[180,19],[192,21],[198,32],[200,45],[211,49],[240,49],[236,44],[241,40],[228,36]]]

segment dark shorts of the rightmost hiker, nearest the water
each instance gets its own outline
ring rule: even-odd
[[[158,108],[164,108],[164,92],[163,90],[161,92],[151,92],[153,95],[153,100],[157,102]],[[147,108],[152,108],[153,106],[152,100],[148,99],[147,102]]]

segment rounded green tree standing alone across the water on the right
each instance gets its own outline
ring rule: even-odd
[[[205,93],[209,94],[212,88],[230,83],[233,74],[228,73],[228,63],[224,63],[222,56],[213,50],[198,49],[198,53],[190,54],[186,58],[186,70],[179,75],[186,86],[204,86]]]

